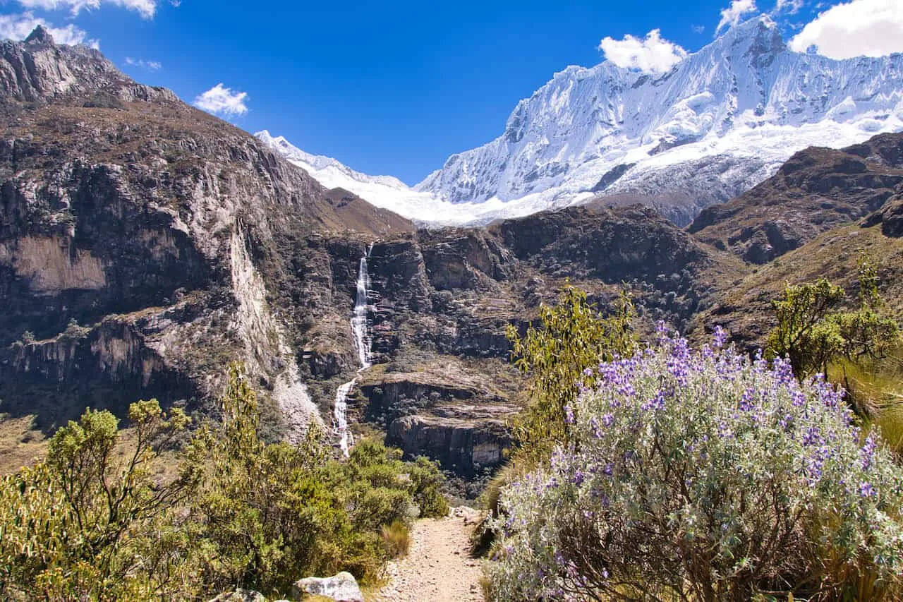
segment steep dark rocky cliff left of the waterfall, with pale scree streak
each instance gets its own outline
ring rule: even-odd
[[[238,360],[284,430],[317,419],[280,242],[408,222],[42,30],[0,46],[0,115],[4,411],[33,412],[53,388],[66,400],[42,404],[45,426],[86,405],[76,391],[120,410],[151,395],[209,408]]]

